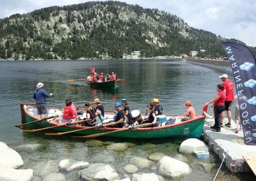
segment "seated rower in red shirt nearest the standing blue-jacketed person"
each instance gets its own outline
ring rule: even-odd
[[[63,108],[63,116],[58,117],[56,121],[61,124],[68,124],[72,121],[72,119],[76,119],[77,115],[76,112],[74,112],[72,108],[72,102],[71,99],[67,98],[65,101],[65,107]]]

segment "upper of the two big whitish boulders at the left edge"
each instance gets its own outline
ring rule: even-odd
[[[6,143],[0,142],[0,166],[19,168],[23,164],[24,162],[18,152],[8,147]]]

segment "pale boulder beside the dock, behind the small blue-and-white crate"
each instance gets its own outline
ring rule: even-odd
[[[204,141],[196,138],[189,138],[181,143],[179,152],[182,154],[194,154],[195,148],[207,148]]]

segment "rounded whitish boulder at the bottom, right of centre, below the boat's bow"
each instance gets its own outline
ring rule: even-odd
[[[165,156],[159,161],[159,173],[165,178],[175,178],[191,173],[191,168],[182,161]]]

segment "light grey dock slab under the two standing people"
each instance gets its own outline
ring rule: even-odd
[[[225,119],[224,122],[227,122]],[[256,146],[245,145],[243,140],[243,131],[235,133],[236,124],[234,121],[231,127],[221,127],[221,132],[212,132],[211,127],[214,125],[214,119],[205,119],[204,124],[204,141],[208,143],[221,159],[224,156],[225,165],[234,172],[251,172],[250,166],[244,160],[244,155],[256,156]],[[223,156],[224,154],[224,156]]]

